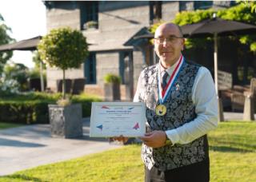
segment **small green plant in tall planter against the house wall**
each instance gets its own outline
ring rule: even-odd
[[[108,73],[104,77],[104,91],[106,101],[120,100],[120,83],[121,77]]]

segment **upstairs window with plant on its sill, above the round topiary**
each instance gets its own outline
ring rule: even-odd
[[[98,29],[98,2],[80,2],[81,30]]]

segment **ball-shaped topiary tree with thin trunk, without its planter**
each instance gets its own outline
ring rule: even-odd
[[[62,99],[66,99],[65,70],[78,68],[88,56],[86,38],[78,30],[59,28],[51,30],[38,44],[42,61],[62,69]]]

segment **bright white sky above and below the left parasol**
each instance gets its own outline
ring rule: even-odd
[[[46,34],[46,6],[41,0],[1,0],[0,14],[16,41]],[[11,61],[33,68],[32,56],[31,51],[15,50]]]

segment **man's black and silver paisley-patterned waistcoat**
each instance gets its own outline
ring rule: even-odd
[[[192,87],[200,66],[184,61],[164,103],[167,113],[162,117],[155,114],[155,107],[159,104],[158,66],[152,65],[144,69],[141,84],[138,85],[138,97],[146,103],[147,131],[176,129],[197,117],[192,101]],[[200,162],[207,157],[206,135],[189,144],[166,145],[161,148],[150,148],[142,144],[142,160],[149,169],[154,165],[159,170],[166,171]]]

